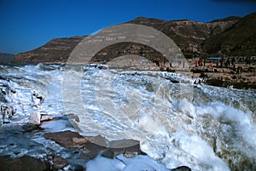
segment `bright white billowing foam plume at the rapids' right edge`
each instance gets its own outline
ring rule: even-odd
[[[229,125],[239,140],[235,143],[237,147],[247,155],[256,157],[256,154],[251,151],[256,151],[256,127],[252,122],[251,112],[245,113],[220,102],[207,105],[206,110],[199,108],[199,111],[201,115],[210,114],[216,119],[215,122]],[[245,148],[246,146],[249,149]]]

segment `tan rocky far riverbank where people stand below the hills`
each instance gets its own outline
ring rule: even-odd
[[[131,56],[129,56],[131,58]],[[184,75],[190,75],[190,78],[201,79],[207,85],[224,87],[224,88],[245,88],[256,89],[256,64],[247,64],[246,62],[236,63],[235,66],[220,67],[216,64],[206,62],[201,66],[195,66],[194,60],[181,60],[176,62],[153,63],[150,60],[139,60],[139,57],[133,56],[134,59],[119,58],[109,61],[106,65],[109,69],[117,71],[168,71],[177,72]],[[100,63],[98,63],[100,64]]]

